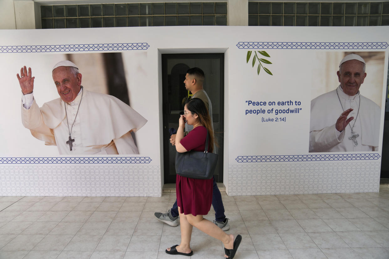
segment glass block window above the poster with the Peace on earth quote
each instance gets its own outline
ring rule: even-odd
[[[256,1],[248,15],[249,26],[380,26],[389,25],[389,1]]]

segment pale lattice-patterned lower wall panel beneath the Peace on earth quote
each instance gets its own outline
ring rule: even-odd
[[[380,161],[229,165],[228,195],[377,192]]]

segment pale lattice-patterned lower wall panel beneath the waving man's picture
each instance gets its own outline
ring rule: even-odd
[[[0,196],[161,196],[151,165],[2,165]]]

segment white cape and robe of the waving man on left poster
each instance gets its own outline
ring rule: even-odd
[[[28,110],[22,105],[23,125],[46,145],[56,145],[61,155],[138,154],[130,131],[136,132],[147,120],[114,96],[83,91],[72,103],[66,103],[69,128],[74,122],[72,151],[66,144],[69,131],[61,98],[44,103],[41,108],[35,99]]]

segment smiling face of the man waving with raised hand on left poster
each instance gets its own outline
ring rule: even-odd
[[[81,78],[82,75],[78,73],[76,76],[70,71],[69,66],[59,66],[53,70],[54,83],[64,102],[70,103],[77,97],[81,90]]]

